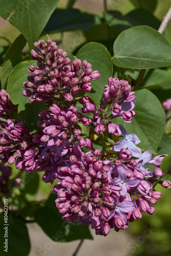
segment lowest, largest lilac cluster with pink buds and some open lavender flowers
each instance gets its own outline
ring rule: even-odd
[[[152,184],[163,172],[157,167],[151,173],[143,165],[159,166],[163,155],[151,160],[151,151],[146,151],[134,159],[132,152],[122,148],[112,162],[101,159],[101,150],[81,152],[77,142],[72,154],[66,166],[58,167],[59,181],[53,187],[53,193],[58,195],[56,206],[65,214],[63,220],[90,224],[96,234],[106,236],[110,228],[119,231],[141,219],[142,212],[154,213],[161,192],[154,190]],[[170,187],[169,181],[160,184]]]

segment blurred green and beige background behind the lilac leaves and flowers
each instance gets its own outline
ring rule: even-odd
[[[104,3],[106,3],[106,10],[113,11],[106,15],[104,13]],[[68,4],[68,0],[60,0],[57,9],[65,9]],[[88,41],[98,41],[104,44],[109,52],[113,55],[113,42],[118,34],[129,28],[131,18],[133,17],[135,9],[145,9],[144,16],[136,17],[135,25],[148,25],[149,16],[148,8],[152,11],[155,18],[154,27],[158,29],[162,22],[163,16],[167,13],[170,7],[170,0],[151,0],[151,1],[136,1],[136,0],[87,0],[75,1],[74,8],[88,12],[89,14],[96,14],[97,21],[93,26],[88,29],[87,25],[85,30],[76,29],[74,31],[62,31],[49,34],[51,39],[58,43],[58,47],[65,51],[76,53],[83,44]],[[132,15],[130,14],[132,13]],[[122,20],[122,23],[115,26],[116,20],[111,20],[113,15],[116,19]],[[105,23],[98,24],[98,18],[105,17]],[[133,26],[135,26],[133,24]],[[8,21],[0,18],[0,62],[3,63],[3,58],[9,47],[9,45],[15,40],[20,32],[10,25]],[[168,24],[165,31],[166,38],[171,42],[171,23]],[[42,35],[42,38],[46,38]],[[24,49],[24,55],[29,54],[28,46]],[[171,56],[170,56],[171,57]],[[171,82],[171,81],[170,81]],[[167,140],[168,138],[166,138]],[[167,147],[163,142],[159,145],[159,154],[171,154],[171,144]],[[169,175],[166,179],[171,180]],[[51,193],[52,185],[45,184],[41,181],[41,175],[39,176],[39,188],[36,200],[42,200],[48,198]],[[120,230],[118,233],[111,230],[107,237],[92,236],[94,240],[83,241],[83,244],[77,255],[84,256],[88,254],[94,254],[101,256],[107,254],[108,256],[141,256],[141,255],[171,255],[171,223],[170,223],[170,209],[171,209],[171,196],[170,191],[157,185],[156,190],[162,192],[162,198],[155,206],[156,212],[153,216],[147,213],[143,214],[143,218],[139,221],[130,223],[130,227],[127,230]],[[32,200],[34,195],[29,194],[28,198]],[[57,243],[50,240],[49,237],[38,227],[36,224],[28,224],[30,239],[31,239],[31,251],[29,256],[68,256],[73,255],[79,241],[69,243]]]

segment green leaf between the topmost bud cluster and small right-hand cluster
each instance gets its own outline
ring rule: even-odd
[[[77,58],[84,60],[92,64],[92,70],[98,70],[101,77],[92,83],[92,92],[87,95],[93,99],[98,109],[99,101],[102,97],[105,84],[108,84],[108,78],[112,76],[113,66],[112,58],[105,46],[98,42],[88,42],[88,44],[81,47],[78,51]]]

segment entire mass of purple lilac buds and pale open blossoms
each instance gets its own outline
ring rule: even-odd
[[[39,132],[31,136],[22,121],[13,116],[17,106],[1,90],[2,164],[15,163],[27,174],[45,171],[42,180],[46,183],[58,179],[53,193],[62,219],[90,224],[96,234],[106,236],[110,228],[125,229],[141,219],[142,212],[152,215],[161,198],[153,184],[164,174],[160,164],[165,155],[151,160],[151,151],[142,153],[137,146],[140,140],[136,134],[127,135],[123,126],[115,123],[116,117],[131,122],[136,114],[135,92],[130,84],[110,77],[97,110],[86,96],[92,89],[91,81],[100,78],[91,63],[80,59],[71,63],[67,53],[50,39],[34,45],[37,50],[31,53],[37,67],[30,66],[23,95],[31,102],[44,100],[47,108],[40,110]],[[80,112],[78,102],[82,105]],[[94,148],[92,134],[101,139],[101,149]],[[154,172],[145,164],[155,165]],[[9,168],[7,173],[10,175]],[[9,175],[3,170],[0,182]],[[169,181],[159,183],[170,188]]]

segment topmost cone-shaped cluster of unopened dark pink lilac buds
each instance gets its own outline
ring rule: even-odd
[[[30,66],[28,82],[23,83],[26,89],[23,95],[30,97],[31,102],[45,100],[47,103],[73,101],[80,93],[92,89],[91,80],[100,78],[99,72],[92,71],[92,65],[84,60],[75,59],[70,66],[67,52],[58,49],[50,39],[34,43],[38,49],[31,51],[31,58],[37,60],[37,67]],[[32,89],[32,90],[30,90]]]

